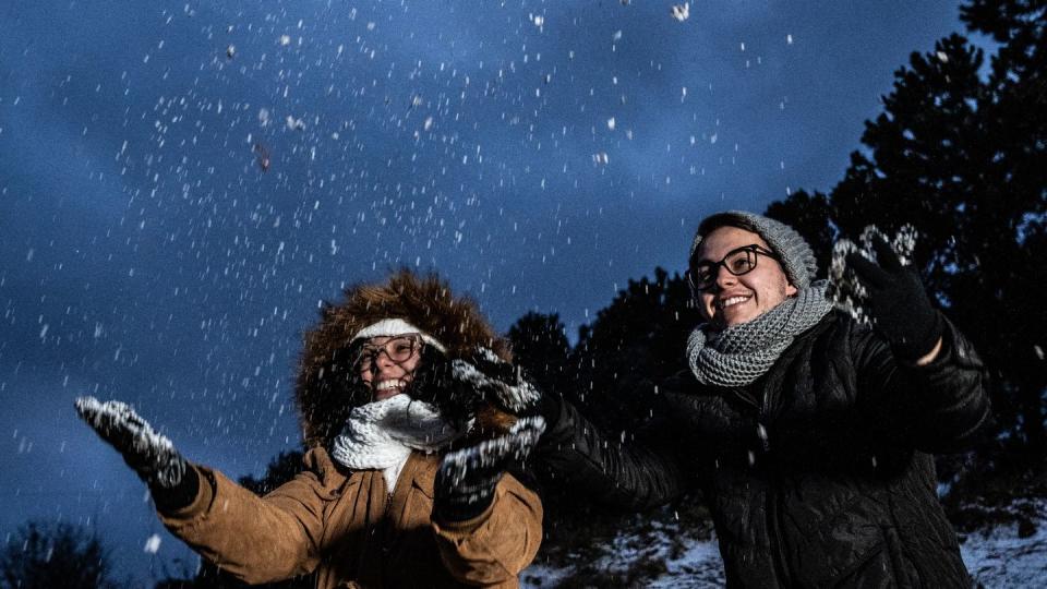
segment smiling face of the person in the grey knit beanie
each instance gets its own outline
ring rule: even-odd
[[[754,243],[770,250],[767,242],[753,231],[720,227],[701,240],[701,245],[695,252],[694,264],[715,264],[727,252]],[[701,314],[722,329],[753,321],[795,294],[796,287],[789,284],[781,264],[773,257],[758,254],[756,267],[742,276],[718,267],[715,281],[699,291],[698,297]]]

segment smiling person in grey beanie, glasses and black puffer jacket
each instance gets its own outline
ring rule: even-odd
[[[688,271],[707,323],[690,370],[650,395],[649,434],[621,444],[546,399],[539,459],[629,508],[700,488],[732,587],[970,586],[931,454],[987,422],[986,371],[916,274],[875,248],[879,265],[847,259],[872,329],[833,309],[792,228],[707,218]]]

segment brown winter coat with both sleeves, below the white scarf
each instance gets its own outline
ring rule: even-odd
[[[538,496],[510,474],[493,505],[431,521],[437,455],[413,453],[392,501],[381,471],[346,472],[323,448],[265,497],[197,467],[201,492],[163,517],[201,555],[252,584],[316,570],[316,587],[518,587],[542,539]]]

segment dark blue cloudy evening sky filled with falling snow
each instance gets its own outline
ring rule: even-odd
[[[892,73],[962,28],[952,2],[671,3],[5,3],[0,534],[91,522],[147,578],[185,550],[143,551],[160,527],[75,396],[261,473],[298,442],[317,301],[433,268],[500,329],[574,336],[682,271],[702,216],[830,190]]]

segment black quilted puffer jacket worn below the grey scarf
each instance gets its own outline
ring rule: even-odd
[[[642,443],[604,440],[564,406],[539,456],[630,508],[700,485],[730,586],[967,587],[930,454],[983,429],[986,378],[951,325],[938,358],[908,368],[830,313],[749,386],[678,375],[651,395]]]

